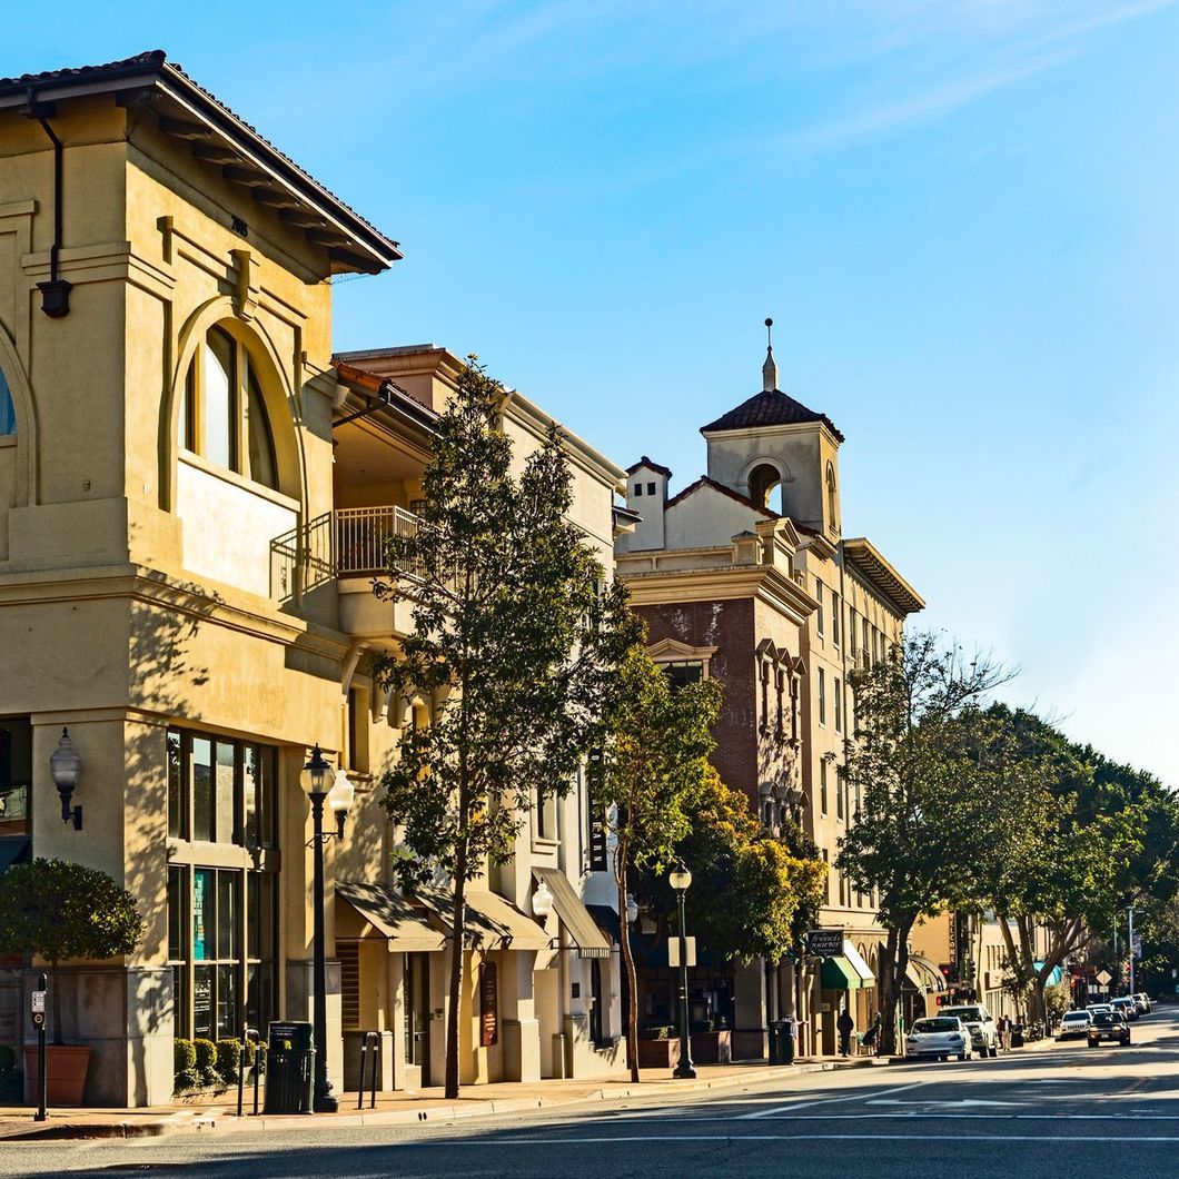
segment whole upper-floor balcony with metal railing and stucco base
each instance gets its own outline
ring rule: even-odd
[[[270,542],[271,595],[299,601],[335,581],[341,630],[406,633],[408,604],[378,600],[373,580],[389,574],[389,540],[411,536],[420,526],[416,515],[395,505],[325,512]]]

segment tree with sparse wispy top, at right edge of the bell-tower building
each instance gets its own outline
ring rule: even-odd
[[[863,805],[836,863],[852,888],[880,895],[888,929],[877,976],[884,1053],[896,1050],[914,924],[969,900],[963,865],[975,855],[977,790],[971,730],[977,702],[1008,678],[989,659],[968,660],[933,634],[907,638],[850,677],[856,727],[839,775]]]

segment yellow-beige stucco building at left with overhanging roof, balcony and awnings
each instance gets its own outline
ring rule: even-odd
[[[441,1079],[444,897],[393,887],[375,789],[433,702],[389,700],[369,660],[409,625],[371,578],[459,362],[331,353],[332,277],[399,257],[163,54],[0,81],[0,870],[100,868],[147,923],[125,962],[66,970],[88,1104],[167,1100],[174,1035],[310,1017],[315,744],[356,785],[327,851],[330,1075],[354,1086],[375,1030],[382,1087]],[[519,394],[503,415],[520,457],[549,422]],[[608,567],[624,473],[567,453]],[[80,830],[50,778],[62,727]],[[473,897],[467,1082],[621,1067],[580,785]],[[29,977],[0,963],[0,1042],[31,1032]]]

